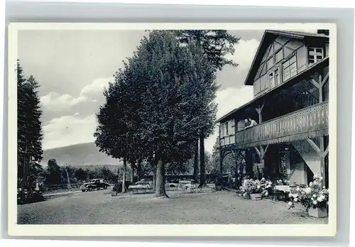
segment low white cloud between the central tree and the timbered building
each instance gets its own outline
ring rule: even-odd
[[[246,104],[253,99],[253,87],[245,86],[241,88],[228,88],[217,92],[216,103],[217,119],[224,116],[239,106]],[[204,149],[209,153],[212,152],[214,143],[218,137],[218,126],[214,128],[214,133],[204,141]]]

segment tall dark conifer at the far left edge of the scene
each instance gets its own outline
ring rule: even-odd
[[[31,186],[43,168],[42,160],[42,126],[40,117],[40,99],[38,96],[38,82],[33,76],[26,78],[20,62],[17,61],[17,153],[18,179],[24,187]]]

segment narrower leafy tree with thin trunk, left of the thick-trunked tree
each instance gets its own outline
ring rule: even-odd
[[[132,63],[132,59],[124,62],[124,68],[115,74],[114,83],[109,83],[109,87],[104,89],[106,102],[97,114],[99,126],[94,133],[100,151],[124,160],[123,183],[126,182],[126,163],[131,163],[133,168],[136,160],[144,157],[145,147],[137,135],[141,123],[137,109],[141,107],[141,102],[140,88],[134,87],[134,91],[131,89],[133,82],[139,79],[131,70]],[[122,186],[122,192],[125,192],[125,186]]]

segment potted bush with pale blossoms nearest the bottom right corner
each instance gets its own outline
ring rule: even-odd
[[[325,209],[328,207],[329,192],[324,186],[322,187],[323,177],[315,175],[313,179],[314,181],[310,182],[307,187],[301,188],[297,186],[291,190],[290,194],[288,194],[291,199],[288,202],[289,209],[295,207],[295,202],[302,204],[306,209],[311,207]]]

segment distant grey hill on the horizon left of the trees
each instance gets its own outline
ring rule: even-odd
[[[55,158],[58,165],[68,163],[75,167],[88,165],[122,165],[120,160],[101,153],[95,143],[82,143],[43,150],[42,165],[46,166],[48,160],[51,158]]]

